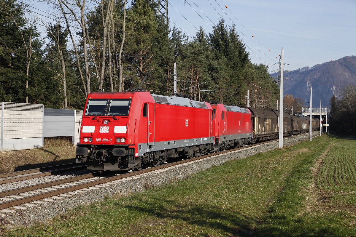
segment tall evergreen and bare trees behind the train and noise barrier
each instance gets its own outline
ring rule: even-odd
[[[89,92],[132,91],[263,108],[276,104],[268,66],[254,64],[223,18],[190,39],[169,28],[155,0],[41,0],[53,12],[0,0],[0,101],[83,109]]]

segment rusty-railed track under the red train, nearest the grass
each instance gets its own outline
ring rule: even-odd
[[[184,165],[184,163],[197,162],[199,160],[207,159],[211,156],[241,150],[246,147],[254,149],[254,146],[258,146],[261,144],[267,145],[267,143],[269,142],[272,141],[264,141],[259,144],[253,144],[226,151],[210,153],[208,155],[172,162],[157,167],[149,167],[146,169],[142,169],[141,171],[129,172],[124,174],[115,174],[112,171],[98,171],[80,176],[31,185],[27,187],[6,190],[0,192],[0,210],[2,210],[2,212],[15,212],[15,210],[10,210],[8,208],[14,207],[14,209],[26,209],[24,207],[20,207],[19,205],[24,204],[25,206],[34,206],[36,204],[45,203],[44,201],[62,199],[65,197],[69,197],[72,194],[75,194],[74,192],[85,192],[110,186],[112,184],[117,183],[117,181],[120,179],[127,181],[133,178],[138,178],[140,176],[145,176],[150,172],[161,172],[165,169],[171,169],[174,166]],[[33,202],[33,204],[31,204],[30,202]]]

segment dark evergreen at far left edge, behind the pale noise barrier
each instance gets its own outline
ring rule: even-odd
[[[24,17],[24,7],[14,0],[0,0],[0,99],[1,101],[30,103],[40,95],[31,84],[41,60],[40,34],[35,23]],[[30,47],[31,45],[31,47]],[[30,54],[31,57],[30,57]],[[29,72],[27,76],[27,65]],[[28,89],[26,88],[28,85]]]

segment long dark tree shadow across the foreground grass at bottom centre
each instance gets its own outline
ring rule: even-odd
[[[194,203],[182,204],[168,199],[159,199],[159,201],[157,199],[155,203],[146,202],[137,197],[134,199],[136,199],[133,200],[134,203],[138,201],[141,205],[122,206],[119,203],[116,205],[132,211],[140,211],[162,220],[181,220],[193,226],[211,228],[226,236],[254,236],[251,226],[254,226],[258,221],[241,214],[239,211],[222,210],[220,206],[203,206]],[[135,235],[135,233],[131,234]]]

